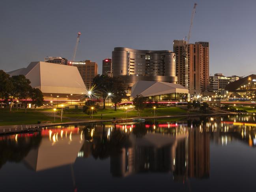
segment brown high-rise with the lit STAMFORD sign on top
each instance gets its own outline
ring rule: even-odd
[[[98,64],[91,60],[69,62],[69,64],[77,67],[86,88],[92,88],[93,78],[98,74]]]

